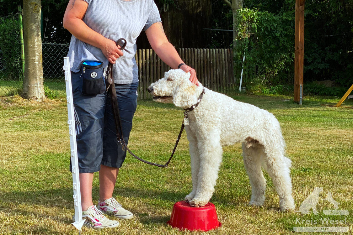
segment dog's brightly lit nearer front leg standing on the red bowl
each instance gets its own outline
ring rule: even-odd
[[[200,153],[200,168],[197,179],[197,191],[190,201],[191,206],[204,206],[211,199],[215,191],[219,166],[222,161],[222,146],[220,135],[214,131],[198,138],[198,150]]]

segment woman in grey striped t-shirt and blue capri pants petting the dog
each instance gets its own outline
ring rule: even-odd
[[[115,64],[113,75],[126,143],[137,105],[138,68],[134,55],[140,32],[146,32],[151,47],[165,63],[190,72],[190,81],[197,85],[196,72],[184,64],[169,43],[153,0],[70,0],[63,24],[72,33],[67,56],[71,62],[84,225],[116,227],[119,222],[109,220],[102,212],[121,219],[130,219],[133,214],[113,198],[126,150],[122,151],[116,141],[110,95],[104,91],[104,80],[100,79],[104,76],[103,69],[106,71],[108,62]],[[119,38],[126,39],[124,52],[116,46]],[[91,63],[94,66],[90,67]],[[97,171],[100,198],[94,206],[92,182]]]

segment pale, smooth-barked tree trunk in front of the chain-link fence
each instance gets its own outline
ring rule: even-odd
[[[23,96],[27,99],[44,99],[41,0],[23,0],[23,30],[25,71]]]

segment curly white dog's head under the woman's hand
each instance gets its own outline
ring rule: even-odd
[[[177,107],[186,109],[197,103],[197,98],[202,91],[202,84],[193,84],[190,80],[190,72],[181,69],[170,69],[164,73],[164,78],[152,83],[148,92],[153,99],[160,103],[173,103]]]

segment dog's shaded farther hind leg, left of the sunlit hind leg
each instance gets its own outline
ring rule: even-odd
[[[252,138],[246,138],[241,145],[243,160],[251,184],[251,199],[249,204],[262,206],[265,201],[266,179],[261,170],[263,146]]]

